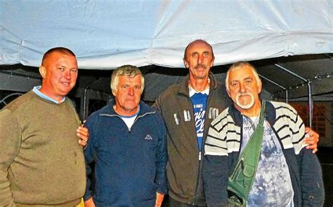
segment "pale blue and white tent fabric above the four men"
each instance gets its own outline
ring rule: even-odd
[[[0,0],[0,64],[39,66],[49,48],[76,53],[80,69],[123,64],[183,67],[197,38],[215,65],[332,52],[332,1]]]

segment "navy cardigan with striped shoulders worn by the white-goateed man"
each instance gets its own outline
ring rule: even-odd
[[[304,148],[301,117],[287,103],[274,101],[266,101],[265,115],[285,155],[294,190],[294,206],[322,206],[325,199],[322,171],[312,150]],[[204,148],[203,180],[207,206],[228,205],[228,176],[237,164],[240,143],[242,115],[230,106],[211,122]]]

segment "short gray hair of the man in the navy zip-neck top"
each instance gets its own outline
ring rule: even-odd
[[[134,78],[135,76],[138,75],[141,77],[141,94],[142,94],[143,89],[145,88],[145,78],[143,78],[143,74],[141,73],[140,69],[138,69],[137,66],[132,66],[132,65],[120,66],[117,69],[115,69],[115,71],[113,71],[110,83],[112,92],[117,90],[117,86],[119,83],[119,76],[127,76],[130,78]]]

